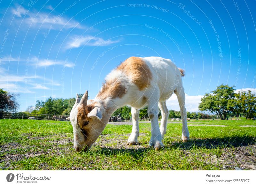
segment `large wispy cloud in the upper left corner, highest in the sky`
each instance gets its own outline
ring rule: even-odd
[[[48,9],[52,6],[48,6]],[[72,8],[72,7],[71,7]],[[51,9],[50,9],[51,10]],[[66,9],[65,9],[66,10]],[[75,20],[69,20],[64,18],[66,11],[61,12],[59,15],[51,15],[44,12],[31,12],[23,8],[22,6],[16,6],[12,9],[12,14],[18,18],[22,18],[23,15],[27,13],[27,16],[22,20],[23,23],[28,26],[33,27],[44,27],[51,28],[53,30],[59,30],[64,28],[85,28],[79,22]],[[21,19],[17,19],[17,22],[20,24]]]

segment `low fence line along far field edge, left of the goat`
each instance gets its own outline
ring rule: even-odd
[[[53,118],[56,116],[57,118]],[[51,114],[30,114],[30,113],[4,113],[0,119],[34,119],[34,120],[60,120],[66,121],[69,115],[51,115]]]

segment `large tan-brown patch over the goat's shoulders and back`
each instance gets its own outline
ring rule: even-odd
[[[130,76],[132,78],[132,82],[138,86],[139,90],[143,90],[149,86],[152,73],[142,58],[129,57],[116,69],[124,71],[125,74]]]

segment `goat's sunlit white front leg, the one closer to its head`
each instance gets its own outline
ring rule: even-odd
[[[139,136],[139,110],[136,108],[131,109],[132,112],[132,133],[128,138],[127,145],[136,145]]]

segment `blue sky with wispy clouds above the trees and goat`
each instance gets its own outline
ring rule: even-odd
[[[220,84],[256,93],[255,1],[0,1],[0,87],[36,100],[98,93],[130,56],[185,69],[188,111]],[[177,97],[167,101],[179,110]]]

